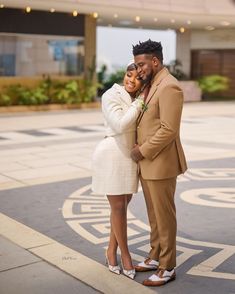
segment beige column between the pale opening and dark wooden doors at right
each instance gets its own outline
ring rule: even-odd
[[[182,62],[182,70],[190,76],[191,71],[191,32],[176,33],[176,59]]]

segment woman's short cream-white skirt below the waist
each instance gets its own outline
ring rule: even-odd
[[[92,172],[92,191],[96,194],[124,195],[138,191],[137,164],[130,157],[130,148],[121,144],[118,137],[107,137],[97,145]]]

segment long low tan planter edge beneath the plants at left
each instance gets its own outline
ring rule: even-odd
[[[0,106],[0,113],[4,112],[27,112],[27,111],[55,111],[69,109],[92,109],[100,108],[100,102],[89,102],[80,104],[45,104],[45,105],[14,105]]]

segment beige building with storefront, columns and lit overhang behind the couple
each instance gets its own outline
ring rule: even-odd
[[[1,3],[1,1],[3,3]],[[235,97],[235,1],[0,0],[0,76],[83,75],[96,26],[172,29],[191,79],[219,74]]]

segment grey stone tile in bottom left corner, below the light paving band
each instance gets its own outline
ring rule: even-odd
[[[1,294],[100,293],[46,262],[1,272],[0,289]]]

